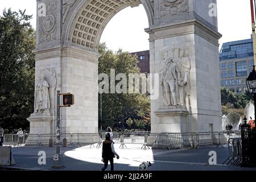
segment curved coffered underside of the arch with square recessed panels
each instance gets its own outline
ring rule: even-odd
[[[154,13],[152,1],[143,0],[88,0],[82,1],[77,13],[71,16],[66,31],[65,44],[97,51],[104,28],[119,11],[129,6],[143,4],[152,25]],[[129,18],[129,17],[127,17]],[[147,28],[147,27],[145,27]]]

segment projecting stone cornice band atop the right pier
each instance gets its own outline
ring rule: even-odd
[[[221,38],[221,34],[212,30],[198,19],[182,20],[180,22],[154,26],[145,29],[150,34],[150,41],[157,39],[171,38],[174,36],[196,34],[219,46],[218,39]]]

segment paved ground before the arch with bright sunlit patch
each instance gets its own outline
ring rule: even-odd
[[[95,145],[95,147],[97,144]],[[198,149],[178,150],[141,150],[141,145],[127,144],[127,148],[119,149],[115,144],[115,151],[120,159],[114,159],[115,171],[138,171],[138,166],[144,161],[150,161],[150,171],[256,171],[256,168],[241,168],[237,166],[223,166],[228,157],[226,147],[201,147]],[[38,164],[38,152],[46,152],[46,165]],[[217,165],[207,164],[210,158],[209,151],[217,152]],[[16,165],[11,168],[32,170],[60,170],[60,171],[99,171],[103,166],[101,162],[101,148],[82,146],[79,148],[61,148],[64,154],[65,168],[52,169],[52,156],[55,147],[13,147],[13,156]],[[107,171],[110,170],[110,166]]]

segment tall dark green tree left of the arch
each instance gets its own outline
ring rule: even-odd
[[[28,129],[34,109],[35,31],[32,16],[10,9],[0,15],[0,125]]]

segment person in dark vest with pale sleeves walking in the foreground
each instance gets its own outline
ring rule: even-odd
[[[110,162],[111,171],[114,171],[114,158],[117,156],[119,159],[119,155],[115,152],[114,143],[110,140],[110,134],[107,132],[105,134],[105,141],[102,144],[102,160],[104,162],[104,167],[101,168],[101,171],[105,171],[108,168],[108,163]]]

